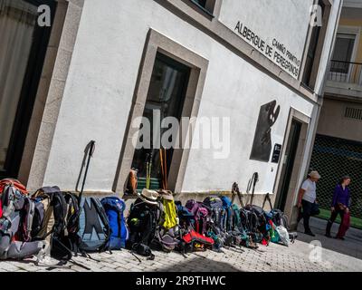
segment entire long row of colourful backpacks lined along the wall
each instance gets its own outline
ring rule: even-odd
[[[124,247],[153,259],[153,249],[185,254],[222,247],[257,248],[270,242],[288,246],[296,237],[288,232],[288,220],[280,210],[266,212],[252,204],[239,207],[226,196],[209,196],[202,202],[190,199],[182,205],[169,190],[143,189],[128,218],[125,208],[117,197],[83,198],[58,187],[29,195],[18,180],[3,179],[0,259],[37,255],[39,261],[50,255],[68,261],[78,254]]]

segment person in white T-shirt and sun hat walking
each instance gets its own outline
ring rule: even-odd
[[[302,215],[299,220],[303,218],[304,225],[304,233],[311,237],[315,237],[310,230],[310,216],[314,215],[313,212],[316,208],[316,182],[320,179],[320,175],[318,171],[313,170],[308,175],[308,179],[306,179],[302,184],[298,196],[298,208],[303,208]]]

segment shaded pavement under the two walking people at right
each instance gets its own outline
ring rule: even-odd
[[[345,240],[325,237],[327,220],[322,218],[310,218],[310,228],[316,237],[310,237],[304,234],[303,222],[298,225],[298,239],[305,243],[313,240],[319,240],[322,247],[340,254],[353,256],[362,259],[362,230],[350,227]],[[335,237],[338,232],[339,224],[333,224],[331,235]]]

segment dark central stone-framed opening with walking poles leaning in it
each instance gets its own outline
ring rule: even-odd
[[[167,117],[175,117],[180,121],[190,71],[190,67],[185,64],[179,63],[163,53],[157,53],[143,111],[143,117],[147,118],[150,123],[149,144],[151,148],[136,149],[132,160],[132,168],[138,170],[138,190],[147,187],[148,170],[150,172],[149,189],[161,189],[161,179],[167,179],[174,150],[172,148],[165,150],[162,158],[164,159],[163,164],[166,166],[161,170],[159,148],[153,147],[154,112],[159,112],[160,121]],[[160,136],[167,130],[168,128],[160,128]],[[167,175],[166,177],[163,176],[163,172]]]

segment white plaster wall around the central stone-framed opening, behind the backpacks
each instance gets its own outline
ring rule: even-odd
[[[231,3],[227,0],[223,3],[221,19],[225,22],[227,11],[232,12],[234,8]],[[243,3],[235,10],[242,18],[249,11],[249,4]],[[338,14],[338,1],[335,4],[331,24],[336,22]],[[260,14],[259,17],[275,14],[275,19],[281,18],[282,23],[294,19],[293,30],[279,21],[267,25],[262,22],[264,28],[258,25],[254,29],[260,29],[264,37],[275,33],[297,54],[302,53],[304,41],[301,39],[305,38],[308,28],[307,5],[294,1],[291,9],[286,7],[285,11],[277,11],[280,8],[270,11],[270,7],[260,5],[258,10],[252,5],[250,9]],[[301,8],[307,11],[292,17],[293,12],[299,13]],[[236,18],[233,14],[233,19]],[[261,22],[260,18],[249,19],[252,23]],[[285,27],[288,33],[281,31]],[[198,116],[231,116],[230,156],[214,160],[212,150],[191,150],[182,191],[229,190],[233,181],[238,181],[244,190],[254,171],[260,174],[256,190],[272,191],[277,165],[249,160],[261,105],[272,100],[281,105],[278,121],[272,127],[274,144],[284,138],[291,107],[311,116],[316,104],[151,0],[85,1],[43,185],[74,189],[83,150],[90,140],[96,140],[86,188],[111,191],[150,28],[209,61]],[[333,33],[334,25],[330,25],[327,40],[333,38]],[[325,50],[324,55],[328,56],[328,41]],[[323,59],[321,75],[326,63],[327,59]]]

